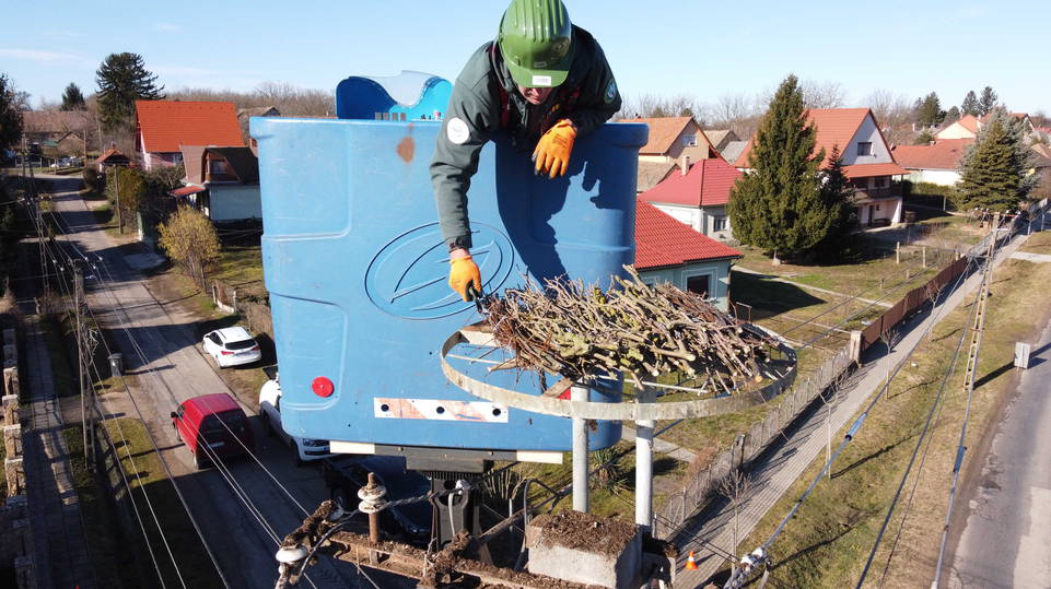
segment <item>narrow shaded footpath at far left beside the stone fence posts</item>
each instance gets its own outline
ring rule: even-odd
[[[93,588],[83,518],[51,381],[51,360],[35,316],[26,320],[25,342],[31,422],[23,435],[23,448],[37,586]]]

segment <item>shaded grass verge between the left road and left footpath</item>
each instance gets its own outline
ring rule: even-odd
[[[175,493],[175,487],[165,474],[160,457],[153,451],[145,426],[132,417],[106,420],[103,426],[116,445],[117,455],[132,490],[131,496],[139,506],[150,545],[164,578],[176,579],[177,576],[157,531],[157,523],[153,521],[147,507],[145,496],[149,496],[160,527],[164,530],[164,539],[178,563],[187,587],[222,587],[221,579]],[[122,493],[118,494],[121,495]]]

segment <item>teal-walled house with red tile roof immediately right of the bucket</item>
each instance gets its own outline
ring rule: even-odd
[[[670,282],[684,291],[704,294],[725,311],[729,308],[729,268],[740,257],[736,249],[637,199],[635,268],[643,282]]]

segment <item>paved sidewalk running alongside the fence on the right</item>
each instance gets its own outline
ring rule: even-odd
[[[1025,236],[1004,246],[997,254],[994,267],[1011,257],[1025,242]],[[852,376],[850,382],[840,389],[839,403],[833,404],[831,427],[833,444],[839,441],[839,432],[854,419],[857,411],[879,391],[889,368],[906,357],[921,341],[924,332],[932,322],[945,318],[953,309],[962,304],[981,282],[981,273],[973,272],[961,285],[954,291],[931,314],[912,318],[903,326],[903,337],[891,355],[881,350],[869,350],[865,356],[864,368]],[[803,474],[803,471],[815,459],[824,460],[826,448],[826,412],[811,412],[791,437],[772,451],[761,462],[754,464],[752,487],[756,490],[748,496],[739,513],[739,539],[751,533],[759,520],[773,507],[782,495]],[[736,552],[739,557],[744,552],[750,552],[756,546],[741,545],[732,550],[733,544],[733,511],[725,505],[719,505],[710,511],[694,516],[694,521],[688,522],[682,531],[674,539],[679,549],[679,566],[685,565],[686,556],[694,551],[697,570],[679,569],[676,585],[681,587],[702,587],[725,562],[724,555]]]

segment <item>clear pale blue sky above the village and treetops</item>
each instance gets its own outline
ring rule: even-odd
[[[455,79],[495,28],[503,0],[342,2],[38,1],[0,22],[0,72],[39,99],[95,90],[110,52],[143,56],[167,89],[250,90],[265,81],[334,89],[402,69]],[[968,2],[621,2],[567,0],[599,39],[621,92],[767,92],[790,72],[837,82],[848,106],[874,90],[943,107],[993,86],[1013,110],[1051,113],[1047,0]]]

